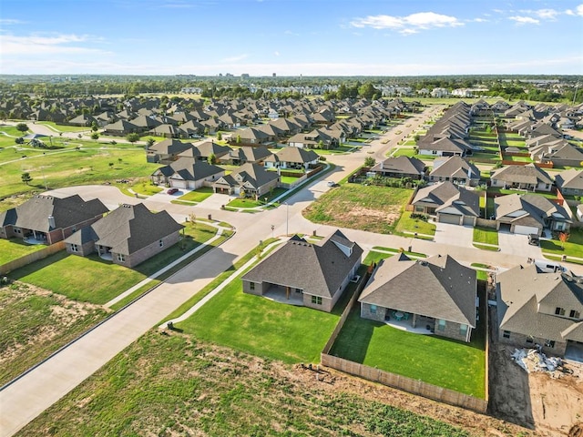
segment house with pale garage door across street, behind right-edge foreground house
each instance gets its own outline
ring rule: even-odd
[[[496,229],[525,235],[541,235],[545,228],[568,231],[573,223],[568,206],[537,194],[509,194],[495,198],[494,219]]]

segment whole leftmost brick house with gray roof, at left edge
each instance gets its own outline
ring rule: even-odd
[[[37,195],[16,208],[0,212],[0,238],[50,245],[101,219],[108,211],[98,198]]]

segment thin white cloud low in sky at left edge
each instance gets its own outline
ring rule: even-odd
[[[0,35],[0,46],[4,55],[47,55],[56,53],[104,53],[100,49],[78,46],[94,41],[87,35],[62,34],[44,36],[33,34],[29,36]]]

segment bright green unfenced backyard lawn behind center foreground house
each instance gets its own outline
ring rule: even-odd
[[[175,326],[199,340],[287,363],[319,362],[337,314],[242,292],[240,279]]]

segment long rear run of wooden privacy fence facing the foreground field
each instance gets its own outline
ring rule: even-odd
[[[485,413],[488,407],[488,402],[485,399],[475,398],[474,396],[438,387],[424,381],[413,380],[406,376],[397,375],[389,371],[374,369],[373,367],[365,366],[358,362],[333,357],[327,353],[322,353],[322,365],[331,367],[337,371],[343,371],[354,376],[359,376],[368,381],[380,382],[381,384],[394,387],[395,389],[408,391],[413,394],[424,396],[428,399],[433,399],[434,401],[463,407],[475,412]]]

